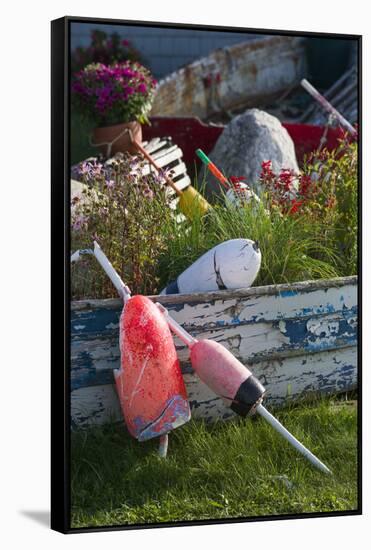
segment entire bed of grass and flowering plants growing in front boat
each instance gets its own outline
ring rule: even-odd
[[[138,160],[126,157],[125,162],[129,166]],[[140,179],[139,164],[136,166],[135,178]],[[118,188],[111,189],[107,183],[102,186],[98,178],[92,189],[97,186],[100,189],[99,200],[92,203],[89,211],[76,210],[90,221],[84,217],[74,218],[74,248],[83,245],[76,239],[79,224],[85,229],[89,227],[84,232],[86,244],[91,245],[94,234],[99,233],[106,254],[110,258],[113,254],[114,265],[125,282],[133,285],[132,290],[149,294],[161,290],[204,252],[233,238],[259,242],[262,265],[255,285],[356,274],[357,145],[342,142],[336,151],[324,150],[320,156],[312,155],[299,179],[287,171],[283,176],[271,174],[269,179],[266,177],[268,168],[268,164],[265,168],[263,166],[265,192],[260,202],[239,202],[236,205],[226,202],[222,196],[206,216],[196,212],[192,220],[183,221],[172,214],[164,191],[158,195],[155,175],[151,175],[153,183],[149,185],[155,200],[144,200],[143,195],[136,195],[136,202],[130,202],[132,199],[120,196],[116,200],[121,204],[121,210],[113,209],[109,199]],[[84,171],[84,165],[81,169]],[[94,163],[86,169],[93,173]],[[83,177],[87,181],[86,175]],[[127,174],[124,179],[129,182],[132,177],[132,174]],[[129,188],[133,190],[133,187]],[[130,216],[122,206],[126,201],[131,205]],[[95,226],[99,226],[98,232]],[[112,232],[116,235],[113,240]],[[141,253],[130,244],[138,239],[142,239],[138,243],[143,243],[136,245]],[[116,246],[116,242],[121,244]],[[89,269],[93,269],[91,262]],[[105,275],[98,275],[96,269],[94,283],[89,286],[87,268],[84,278],[84,292],[87,294],[84,295],[81,287],[74,296],[98,298],[114,295],[108,283],[103,283]]]

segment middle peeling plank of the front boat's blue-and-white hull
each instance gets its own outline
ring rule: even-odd
[[[198,332],[199,338],[210,338],[223,344],[243,364],[257,364],[357,344],[356,324],[340,315],[309,321],[302,319],[281,322],[232,326]],[[284,326],[283,326],[284,325]],[[109,334],[93,333],[73,337],[71,341],[72,388],[113,381],[112,369],[119,368],[118,325]],[[288,328],[290,327],[290,328]],[[189,350],[175,338],[183,372],[191,371]]]

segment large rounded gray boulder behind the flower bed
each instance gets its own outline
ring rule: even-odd
[[[261,163],[271,160],[274,172],[281,168],[299,172],[294,143],[278,118],[259,109],[249,109],[236,116],[219,136],[210,159],[227,177],[245,176],[247,183],[259,191]],[[215,177],[203,169],[201,181],[206,178],[206,192],[210,196],[218,190]]]

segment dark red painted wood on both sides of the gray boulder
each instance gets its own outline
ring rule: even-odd
[[[319,146],[324,132],[323,126],[311,124],[283,123],[283,126],[295,144],[299,163],[303,160],[305,153],[310,153]],[[154,117],[151,119],[151,126],[143,127],[143,139],[150,140],[154,137],[170,136],[174,143],[182,149],[184,162],[187,164],[188,170],[193,173],[194,164],[198,170],[201,167],[201,161],[195,155],[196,149],[202,149],[206,154],[210,153],[223,129],[223,125],[204,124],[196,117]],[[342,135],[341,128],[329,128],[326,147],[330,150],[334,149]]]

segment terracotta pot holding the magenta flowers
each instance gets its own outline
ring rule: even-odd
[[[94,128],[93,130],[93,144],[99,147],[101,153],[105,157],[111,157],[115,153],[128,151],[129,153],[136,153],[135,147],[130,142],[128,132],[124,132],[125,129],[130,129],[134,138],[141,143],[142,141],[142,126],[139,122],[125,122],[122,124],[115,124],[114,126],[104,126],[102,128]],[[111,143],[111,149],[109,144]]]

